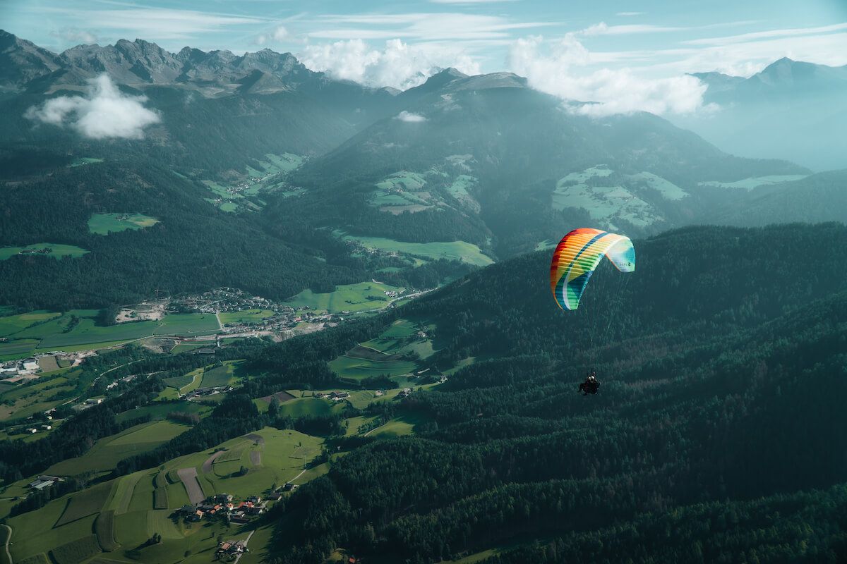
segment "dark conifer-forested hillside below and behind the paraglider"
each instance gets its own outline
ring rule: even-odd
[[[820,240],[832,244],[816,251]],[[345,546],[435,562],[505,545],[519,548],[492,561],[844,558],[843,533],[797,524],[844,516],[843,491],[826,490],[847,480],[844,243],[833,224],[689,228],[636,242],[631,275],[598,271],[593,309],[556,308],[541,253],[419,300],[402,315],[451,335],[437,364],[475,364],[405,401],[417,436],[362,446],[291,497],[279,561]],[[612,308],[602,282],[623,276]],[[595,315],[612,329],[590,348]],[[332,354],[323,337],[347,335],[328,332],[311,350]],[[268,349],[264,362],[278,359],[284,379],[307,342]],[[601,393],[582,397],[591,366]],[[677,526],[683,536],[663,540]],[[683,541],[705,542],[704,528],[722,540]]]

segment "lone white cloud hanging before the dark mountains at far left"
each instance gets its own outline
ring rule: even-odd
[[[143,102],[146,96],[127,96],[108,74],[89,80],[86,96],[59,96],[30,107],[25,117],[59,127],[69,126],[90,139],[142,139],[144,128],[159,117]]]

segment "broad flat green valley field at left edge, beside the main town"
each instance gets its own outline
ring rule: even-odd
[[[97,326],[97,309],[72,309],[64,314],[36,311],[0,317],[0,359],[18,359],[32,353],[104,348],[154,335],[207,335],[219,331],[211,314],[165,315],[158,321],[134,321]]]

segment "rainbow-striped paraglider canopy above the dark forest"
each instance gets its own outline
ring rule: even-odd
[[[579,298],[603,255],[621,272],[635,270],[635,249],[628,237],[582,227],[562,238],[550,265],[550,289],[560,308],[579,307]]]

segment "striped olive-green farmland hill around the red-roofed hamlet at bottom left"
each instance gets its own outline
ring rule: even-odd
[[[123,441],[128,442],[132,434],[110,439],[123,437]],[[19,562],[42,553],[51,553],[54,557],[58,553],[61,559],[63,551],[72,552],[64,545],[75,543],[80,546],[71,548],[79,549],[81,554],[88,546],[91,556],[99,555],[102,545],[115,548],[91,561],[103,564],[133,561],[208,563],[213,561],[219,534],[227,539],[243,539],[255,525],[227,528],[219,519],[204,519],[202,523],[172,520],[170,514],[187,503],[188,497],[185,486],[171,479],[171,474],[175,476],[177,470],[186,468],[197,471],[203,496],[227,492],[234,495],[236,501],[251,495],[266,496],[272,487],[297,476],[300,477],[296,483],[302,484],[327,472],[329,468],[325,464],[304,468],[320,453],[322,445],[323,440],[318,437],[266,427],[225,441],[215,449],[175,458],[164,463],[161,469],[141,470],[50,501],[36,511],[9,520],[14,529],[13,545],[10,546],[13,559]],[[213,452],[219,449],[224,449],[224,454],[219,455],[220,462],[209,462]],[[242,466],[247,473],[234,475],[239,474],[237,471]],[[163,489],[166,495],[155,494],[157,489]],[[157,497],[160,503],[167,500],[167,509],[154,508]],[[92,544],[97,538],[92,532],[104,538]],[[154,533],[161,534],[163,541],[142,547]],[[111,542],[106,542],[107,536],[113,537]],[[261,538],[261,534],[254,537]],[[259,548],[262,544],[257,542],[255,546]]]

